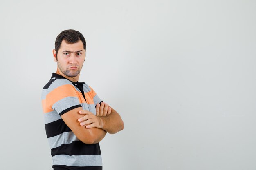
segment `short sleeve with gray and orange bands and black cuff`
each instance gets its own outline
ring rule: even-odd
[[[66,79],[57,79],[49,86],[45,103],[47,108],[55,110],[60,116],[81,107],[76,88]]]

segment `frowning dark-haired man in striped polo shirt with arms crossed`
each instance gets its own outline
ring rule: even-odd
[[[78,82],[86,42],[75,30],[62,31],[53,50],[57,71],[42,92],[45,130],[54,170],[101,170],[99,141],[123,130],[120,115],[84,82]]]

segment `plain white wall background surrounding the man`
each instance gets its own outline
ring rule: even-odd
[[[104,170],[256,169],[255,0],[1,0],[0,24],[0,169],[51,169],[40,97],[65,29],[124,120]]]

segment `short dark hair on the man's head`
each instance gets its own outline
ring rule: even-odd
[[[68,29],[62,31],[55,40],[55,51],[56,54],[58,54],[58,50],[61,47],[61,42],[65,41],[67,44],[73,44],[81,40],[83,42],[83,48],[86,49],[86,42],[85,38],[83,37],[83,34],[81,34],[79,31],[76,31],[74,29]],[[57,56],[57,55],[56,55]]]

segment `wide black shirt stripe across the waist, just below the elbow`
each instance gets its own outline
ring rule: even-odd
[[[51,152],[54,155],[101,155],[99,143],[85,144],[82,141],[73,141],[71,144],[63,144],[53,148]]]

